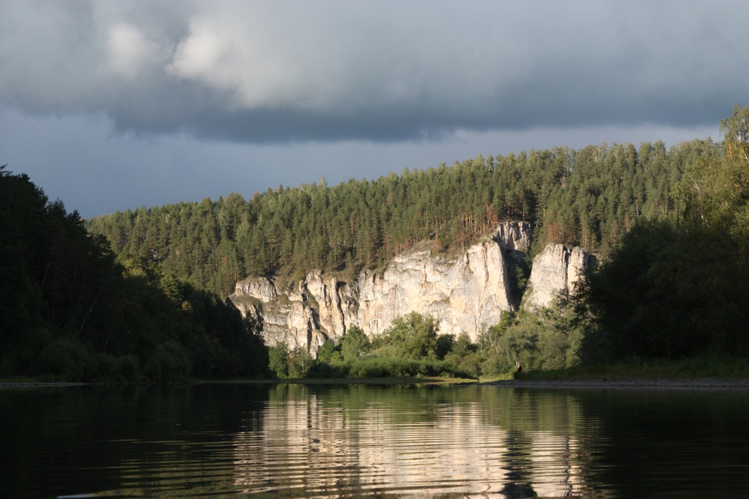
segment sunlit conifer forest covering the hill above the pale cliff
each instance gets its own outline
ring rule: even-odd
[[[333,187],[279,187],[251,200],[142,207],[92,218],[88,228],[127,269],[221,296],[248,275],[298,279],[320,269],[353,279],[419,241],[464,248],[502,220],[532,222],[534,251],[565,242],[606,257],[637,218],[675,218],[682,171],[714,156],[721,147],[711,141],[555,147]],[[527,277],[524,266],[512,274],[520,287]]]

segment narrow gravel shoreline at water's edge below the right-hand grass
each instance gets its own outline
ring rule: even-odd
[[[482,383],[506,388],[732,388],[749,390],[749,379],[588,379],[585,381],[523,381],[518,379]]]

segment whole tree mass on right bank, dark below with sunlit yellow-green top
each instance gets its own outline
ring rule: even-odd
[[[586,356],[749,355],[749,107],[721,121],[720,155],[685,165],[679,218],[643,220],[577,297]]]

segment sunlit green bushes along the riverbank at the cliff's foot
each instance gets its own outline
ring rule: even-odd
[[[577,362],[567,358],[574,333],[562,313],[550,310],[511,318],[488,328],[472,343],[466,334],[438,334],[432,316],[412,312],[370,340],[354,326],[339,342],[327,340],[316,358],[285,343],[270,347],[270,369],[280,379],[311,378],[458,378],[509,379],[518,362],[529,368],[560,369]],[[553,323],[552,323],[553,322]]]

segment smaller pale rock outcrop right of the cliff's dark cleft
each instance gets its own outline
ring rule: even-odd
[[[554,299],[568,296],[583,274],[583,269],[595,266],[595,256],[576,246],[548,245],[533,259],[533,271],[528,279],[523,306],[529,310],[548,307]]]

